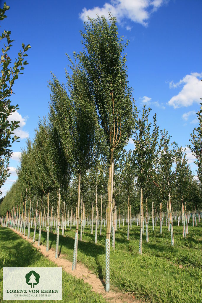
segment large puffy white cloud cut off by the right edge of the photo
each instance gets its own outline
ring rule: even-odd
[[[178,95],[173,96],[169,100],[168,104],[174,108],[179,108],[182,106],[190,106],[193,103],[200,103],[200,98],[202,96],[201,77],[202,73],[191,73],[177,83],[171,81],[169,83],[170,88],[177,88],[181,85],[183,85],[183,88]]]

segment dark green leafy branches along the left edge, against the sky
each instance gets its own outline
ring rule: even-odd
[[[7,16],[5,12],[10,7],[4,3],[3,8],[0,8],[0,21]],[[3,43],[2,55],[0,59],[1,77],[0,77],[0,188],[10,175],[8,171],[8,159],[12,155],[11,146],[19,137],[14,135],[14,130],[19,127],[19,122],[13,120],[12,114],[18,109],[18,105],[11,105],[11,95],[13,85],[18,76],[22,74],[24,66],[28,64],[25,59],[27,51],[31,47],[29,44],[22,43],[22,50],[18,52],[18,58],[11,66],[12,60],[8,55],[8,51],[12,47],[14,40],[10,39],[10,31],[4,31],[0,35],[0,42]],[[5,41],[5,42],[4,42]],[[12,135],[14,135],[12,137]]]

